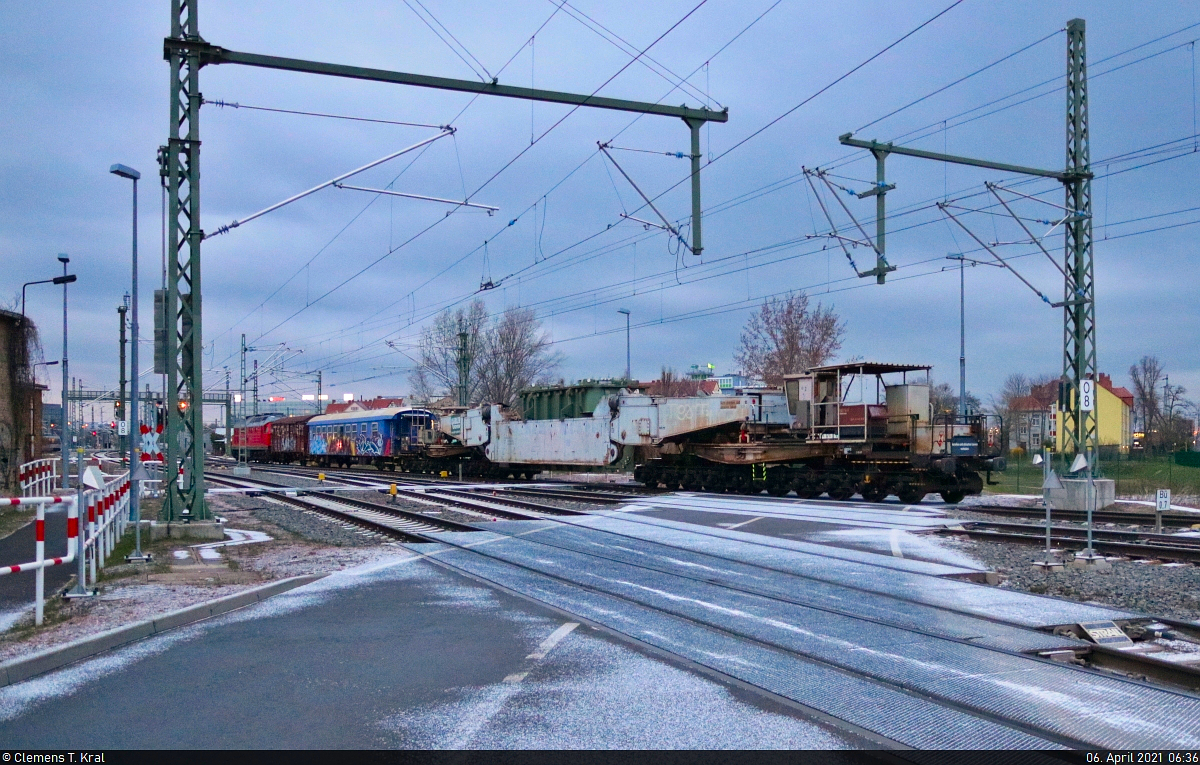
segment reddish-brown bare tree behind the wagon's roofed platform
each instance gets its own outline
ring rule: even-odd
[[[751,314],[733,360],[742,371],[780,385],[782,375],[818,367],[838,353],[846,325],[832,307],[809,307],[804,293],[772,297]]]

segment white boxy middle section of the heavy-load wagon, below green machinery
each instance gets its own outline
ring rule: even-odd
[[[494,463],[604,466],[619,453],[608,439],[611,420],[608,399],[590,417],[570,420],[506,420],[492,406],[492,436],[484,454]]]

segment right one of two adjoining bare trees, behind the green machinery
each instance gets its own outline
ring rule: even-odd
[[[511,406],[522,390],[545,380],[562,360],[532,308],[509,308],[488,327],[484,342],[480,399]]]

